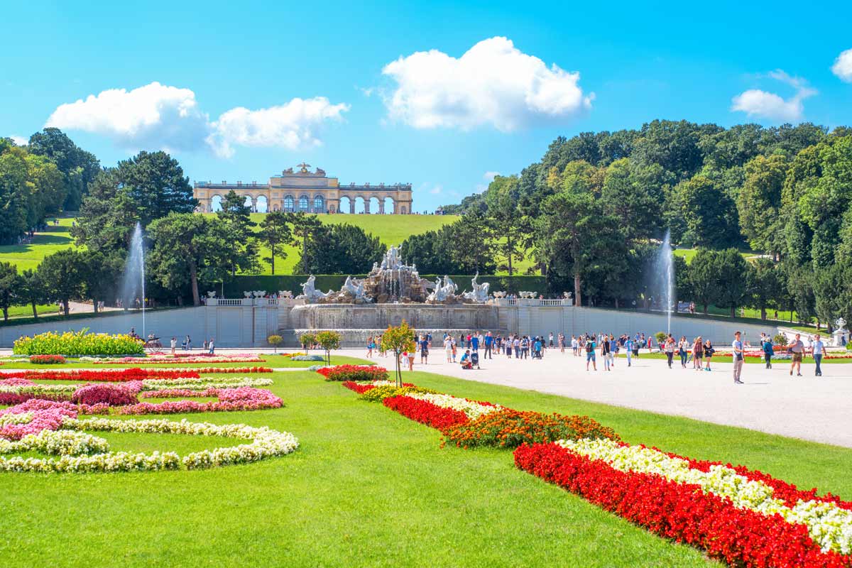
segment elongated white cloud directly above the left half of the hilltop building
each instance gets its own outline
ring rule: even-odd
[[[332,105],[325,97],[293,99],[280,106],[256,111],[239,106],[227,111],[210,126],[210,146],[221,156],[233,155],[239,146],[280,146],[288,150],[320,146],[317,130],[329,120],[342,120],[346,104]]]

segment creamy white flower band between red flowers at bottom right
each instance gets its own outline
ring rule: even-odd
[[[734,507],[766,515],[780,514],[787,522],[808,527],[809,535],[823,552],[852,553],[852,511],[834,503],[799,500],[794,507],[773,496],[761,481],[746,478],[734,469],[711,466],[709,472],[689,467],[689,462],[642,446],[619,445],[609,439],[559,440],[556,444],[592,460],[607,462],[623,472],[652,473],[676,483],[699,485],[702,491],[727,497]]]

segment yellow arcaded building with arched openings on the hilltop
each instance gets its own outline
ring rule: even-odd
[[[365,213],[409,215],[412,213],[412,184],[379,183],[371,185],[342,185],[337,177],[325,175],[325,170],[310,171],[310,164],[299,164],[273,175],[269,183],[213,183],[196,181],[193,195],[199,200],[199,211],[218,209],[218,202],[232,189],[250,198],[255,211],[304,211],[305,213],[354,213],[355,202],[364,202]],[[248,199],[246,200],[248,201]],[[360,208],[359,208],[360,209]]]

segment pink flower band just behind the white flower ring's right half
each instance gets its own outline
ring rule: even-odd
[[[265,388],[239,387],[207,389],[204,396],[219,398],[216,402],[197,402],[195,400],[166,400],[161,403],[141,402],[119,406],[118,414],[183,414],[185,412],[232,412],[234,410],[262,410],[280,408],[284,403],[272,391]],[[193,393],[199,396],[198,392]]]

